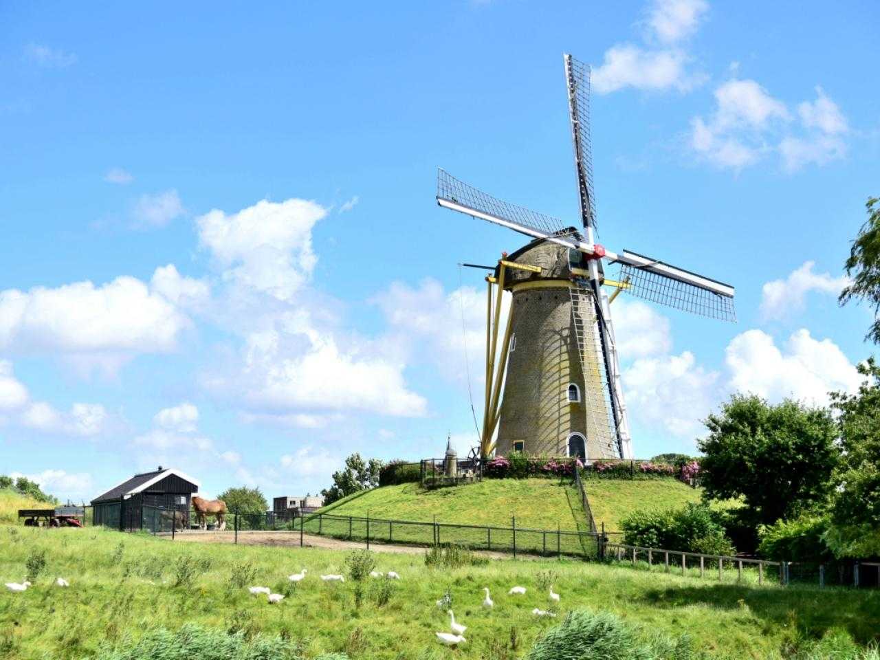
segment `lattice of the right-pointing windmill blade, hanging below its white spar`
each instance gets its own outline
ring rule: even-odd
[[[622,264],[618,281],[625,283],[624,291],[652,303],[665,304],[709,319],[730,322],[737,320],[733,297],[721,296],[666,275]]]

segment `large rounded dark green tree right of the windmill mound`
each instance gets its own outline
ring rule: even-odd
[[[704,423],[700,485],[708,499],[742,498],[763,524],[827,501],[840,457],[829,410],[735,394]]]

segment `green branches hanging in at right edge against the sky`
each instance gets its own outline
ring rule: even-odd
[[[880,199],[869,197],[865,207],[868,220],[862,224],[844,264],[853,281],[840,292],[840,304],[853,298],[867,301],[874,308],[875,319],[865,339],[880,343]]]

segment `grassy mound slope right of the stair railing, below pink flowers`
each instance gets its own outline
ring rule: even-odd
[[[670,509],[700,502],[702,491],[677,479],[586,479],[583,480],[590,509],[598,527],[620,530],[620,520],[635,510]]]

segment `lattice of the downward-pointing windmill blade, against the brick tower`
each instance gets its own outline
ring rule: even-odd
[[[571,316],[583,370],[583,407],[586,413],[587,458],[620,456],[611,388],[605,360],[602,358],[602,340],[599,336],[595,297],[592,290],[582,286],[568,288],[571,297]]]

